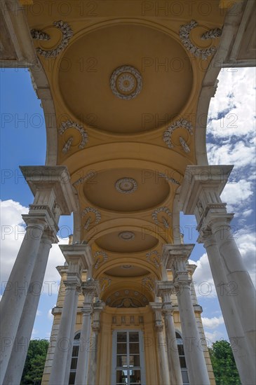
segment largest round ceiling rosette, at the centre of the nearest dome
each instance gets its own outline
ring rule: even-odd
[[[133,66],[119,66],[110,77],[110,88],[119,99],[133,99],[142,90],[142,76]]]

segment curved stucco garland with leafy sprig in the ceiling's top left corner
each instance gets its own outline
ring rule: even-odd
[[[62,39],[60,44],[54,50],[44,50],[43,48],[36,48],[36,52],[40,55],[44,56],[46,59],[50,57],[57,57],[59,53],[64,50],[64,48],[68,45],[69,40],[73,36],[72,28],[67,24],[67,22],[63,22],[62,20],[58,20],[57,22],[53,22],[53,25],[60,29],[62,32]],[[50,40],[50,36],[46,34],[46,32],[40,31],[39,29],[32,29],[30,32],[32,38],[35,40]]]

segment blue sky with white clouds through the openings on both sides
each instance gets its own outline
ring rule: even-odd
[[[20,165],[44,165],[46,129],[40,100],[27,69],[0,69],[1,76],[1,294],[25,234],[32,193]],[[207,149],[210,165],[234,165],[222,201],[234,212],[232,230],[245,265],[255,282],[255,68],[222,69],[210,102]],[[198,237],[194,216],[181,214],[185,243]],[[60,218],[60,243],[72,234],[72,217]],[[49,338],[60,276],[65,262],[58,245],[51,248],[32,338]],[[208,344],[228,339],[206,251],[196,244],[190,262],[197,265],[194,282]]]

